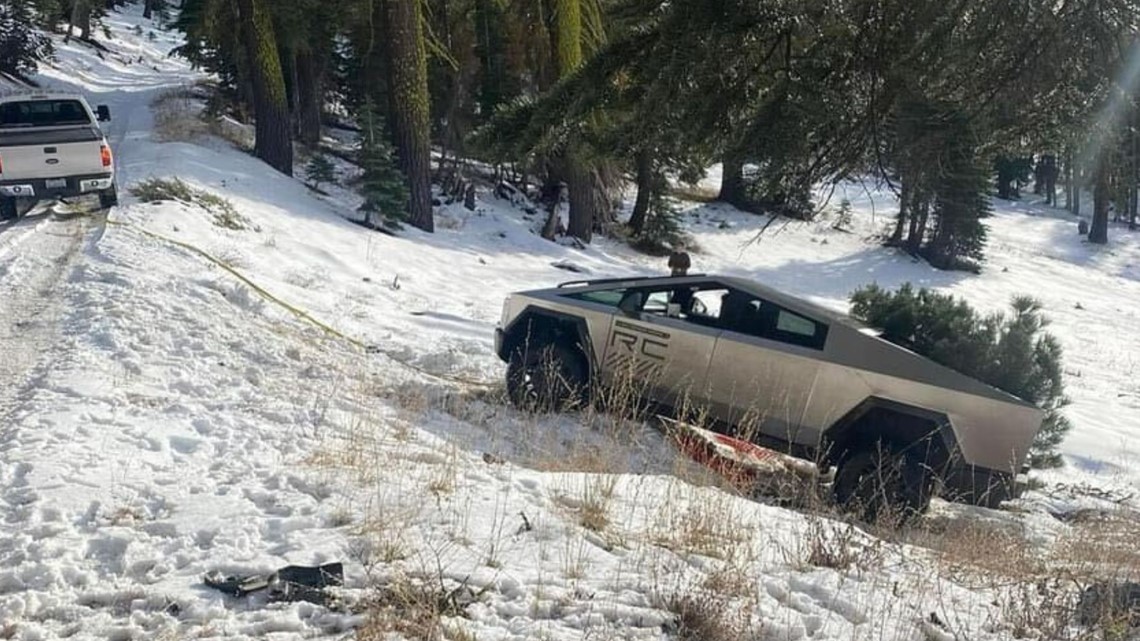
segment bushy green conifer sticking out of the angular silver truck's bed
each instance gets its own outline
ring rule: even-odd
[[[852,315],[882,330],[882,338],[1045,412],[1029,464],[1061,464],[1058,446],[1072,429],[1061,376],[1061,347],[1043,332],[1041,303],[1017,297],[1008,315],[979,315],[966,301],[910,284],[896,292],[870,285],[852,295]]]

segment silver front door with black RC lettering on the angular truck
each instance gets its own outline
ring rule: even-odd
[[[703,408],[720,331],[668,316],[667,292],[643,298],[636,309],[617,311],[610,325],[603,376],[612,393],[637,391],[678,411]]]

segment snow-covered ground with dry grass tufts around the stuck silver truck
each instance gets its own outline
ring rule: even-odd
[[[763,219],[690,205],[699,271],[837,309],[871,282],[993,310],[1031,293],[1053,319],[1069,465],[1016,512],[940,504],[929,532],[880,539],[690,482],[648,428],[503,406],[491,335],[508,292],[580,276],[555,263],[663,261],[542,241],[542,220],[489,193],[442,208],[434,235],[369,233],[344,189],[318,196],[215,138],[161,141],[150,102],[195,74],[140,13],[108,18],[115,52],[59,43],[42,78],[112,106],[121,188],[178,177],[242,228],[125,194],[106,225],[0,228],[0,636],[414,639],[432,601],[448,639],[1064,638],[1053,593],[1025,589],[1041,563],[1140,567],[1077,554],[1090,530],[1048,514],[1117,514],[1140,487],[1140,236],[1092,248],[1061,211],[997,203],[975,276],[879,246],[893,203],[858,185],[833,200],[853,202],[850,233],[825,219],[757,241]],[[202,585],[332,561],[339,608]]]

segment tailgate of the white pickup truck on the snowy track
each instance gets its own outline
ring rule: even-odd
[[[106,159],[104,157],[104,154]],[[0,130],[0,180],[63,178],[111,171],[98,130]]]

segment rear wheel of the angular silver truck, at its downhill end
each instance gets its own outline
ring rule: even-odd
[[[855,451],[839,463],[832,494],[845,511],[866,522],[911,520],[930,505],[933,479],[921,463],[888,444]]]

